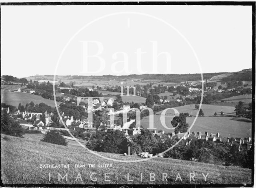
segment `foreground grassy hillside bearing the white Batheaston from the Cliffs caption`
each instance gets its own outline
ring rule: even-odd
[[[4,139],[7,137],[7,139]],[[100,158],[74,141],[68,146],[59,146],[41,142],[41,134],[26,134],[25,138],[16,138],[1,134],[1,175],[3,184],[251,184],[251,170],[247,168],[204,164],[199,162],[153,158],[144,162],[115,162]],[[138,156],[124,157],[121,154],[100,153],[103,156],[118,160],[138,160]],[[69,164],[69,168],[39,168],[40,164]],[[75,164],[84,164],[85,168],[75,168]],[[89,168],[88,164],[95,164]],[[99,165],[111,164],[111,167],[100,168]],[[50,173],[50,181],[49,181]],[[58,173],[66,178],[58,181]],[[76,178],[80,173],[81,178]],[[96,174],[92,174],[96,173]],[[105,173],[107,180],[104,181]],[[127,181],[127,174],[133,182]],[[142,173],[142,182],[141,180]],[[155,174],[155,181],[150,182],[150,173]],[[162,181],[162,173],[167,174]],[[180,174],[182,182],[176,177]],[[190,173],[195,181],[190,182]],[[204,177],[206,176],[206,182]],[[97,178],[96,182],[90,180]],[[82,181],[81,181],[82,179]],[[152,179],[153,180],[153,179]]]

